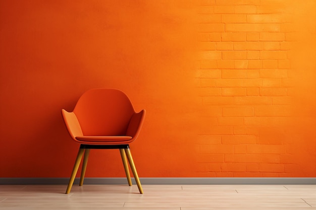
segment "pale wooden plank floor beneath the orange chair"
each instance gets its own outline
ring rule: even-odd
[[[316,185],[0,185],[0,209],[316,209]]]

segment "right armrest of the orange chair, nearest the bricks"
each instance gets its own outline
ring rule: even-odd
[[[134,113],[126,131],[126,135],[132,136],[133,138],[136,138],[140,132],[140,129],[143,125],[143,121],[145,118],[145,110],[141,110],[138,113]]]

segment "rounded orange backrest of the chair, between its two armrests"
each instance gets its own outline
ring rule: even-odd
[[[99,88],[85,92],[73,112],[83,135],[126,135],[135,110],[122,91]]]

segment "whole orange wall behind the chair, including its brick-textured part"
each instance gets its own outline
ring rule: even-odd
[[[147,110],[140,177],[315,176],[316,4],[295,2],[0,0],[0,177],[69,177],[60,111],[100,87]],[[124,177],[90,154],[87,177]]]

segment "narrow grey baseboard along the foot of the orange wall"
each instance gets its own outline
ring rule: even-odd
[[[135,180],[132,178],[133,183]],[[0,184],[68,184],[69,178],[0,178]],[[140,178],[142,184],[316,184],[316,178]],[[79,178],[74,184],[79,184]],[[85,178],[84,184],[127,184],[126,178]]]

